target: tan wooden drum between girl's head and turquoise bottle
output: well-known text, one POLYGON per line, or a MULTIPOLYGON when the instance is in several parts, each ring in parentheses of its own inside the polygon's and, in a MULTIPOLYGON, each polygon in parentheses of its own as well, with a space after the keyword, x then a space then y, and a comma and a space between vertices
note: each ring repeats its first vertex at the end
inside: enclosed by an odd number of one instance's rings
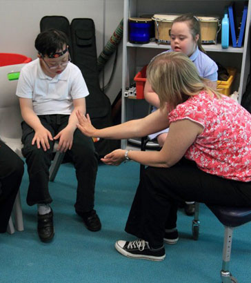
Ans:
POLYGON ((197 17, 201 25, 201 43, 217 43, 217 35, 221 29, 219 17, 197 17))

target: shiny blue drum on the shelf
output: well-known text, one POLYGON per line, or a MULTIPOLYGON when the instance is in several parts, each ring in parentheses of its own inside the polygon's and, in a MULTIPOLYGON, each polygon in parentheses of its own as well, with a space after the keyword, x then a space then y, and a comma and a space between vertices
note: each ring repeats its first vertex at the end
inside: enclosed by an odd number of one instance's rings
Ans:
POLYGON ((152 19, 129 18, 130 43, 145 44, 150 41, 152 19))

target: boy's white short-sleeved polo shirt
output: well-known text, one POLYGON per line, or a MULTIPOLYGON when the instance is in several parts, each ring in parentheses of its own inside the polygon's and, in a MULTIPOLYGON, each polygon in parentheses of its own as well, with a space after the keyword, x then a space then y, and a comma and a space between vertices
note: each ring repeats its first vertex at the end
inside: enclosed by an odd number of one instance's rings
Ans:
POLYGON ((21 69, 16 95, 32 99, 37 115, 70 115, 72 99, 87 97, 89 92, 76 65, 69 62, 61 74, 52 78, 43 72, 39 59, 36 59, 21 69))

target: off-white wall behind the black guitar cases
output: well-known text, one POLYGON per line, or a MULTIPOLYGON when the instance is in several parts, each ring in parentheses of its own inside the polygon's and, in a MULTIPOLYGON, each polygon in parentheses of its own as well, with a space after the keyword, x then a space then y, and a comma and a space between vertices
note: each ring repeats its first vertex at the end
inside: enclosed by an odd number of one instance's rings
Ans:
MULTIPOLYGON (((0 0, 0 52, 37 57, 34 39, 40 32, 43 16, 92 18, 96 27, 97 56, 123 18, 123 0, 0 0)), ((113 59, 113 58, 112 58, 113 59)), ((106 84, 112 70, 112 59, 106 64, 106 84)), ((119 46, 117 68, 111 86, 106 90, 111 102, 121 88, 122 48, 119 46)))

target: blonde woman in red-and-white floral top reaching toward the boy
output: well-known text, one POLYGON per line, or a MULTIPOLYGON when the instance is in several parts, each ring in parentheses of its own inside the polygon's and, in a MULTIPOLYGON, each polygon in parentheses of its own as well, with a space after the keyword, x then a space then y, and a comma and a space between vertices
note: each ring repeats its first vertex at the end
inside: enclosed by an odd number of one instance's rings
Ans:
POLYGON ((108 139, 143 137, 170 126, 160 151, 118 149, 102 159, 110 165, 125 159, 148 165, 125 226, 138 239, 119 240, 115 248, 127 257, 163 260, 164 242, 178 238, 178 202, 251 206, 251 115, 209 88, 181 52, 157 56, 147 76, 159 95, 159 110, 100 130, 78 112, 77 126, 85 135, 108 139))

